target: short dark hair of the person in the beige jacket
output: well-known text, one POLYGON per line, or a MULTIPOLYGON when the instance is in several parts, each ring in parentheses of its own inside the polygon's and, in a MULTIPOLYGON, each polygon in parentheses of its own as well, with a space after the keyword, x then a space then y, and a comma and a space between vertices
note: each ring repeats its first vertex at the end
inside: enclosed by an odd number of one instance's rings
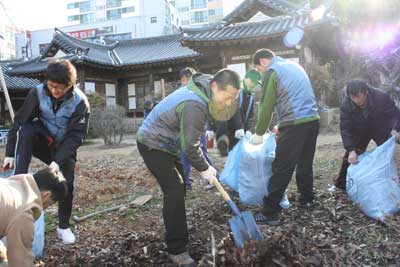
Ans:
POLYGON ((55 172, 49 167, 40 169, 33 174, 40 191, 50 191, 54 201, 63 201, 68 193, 67 181, 61 172, 55 172))

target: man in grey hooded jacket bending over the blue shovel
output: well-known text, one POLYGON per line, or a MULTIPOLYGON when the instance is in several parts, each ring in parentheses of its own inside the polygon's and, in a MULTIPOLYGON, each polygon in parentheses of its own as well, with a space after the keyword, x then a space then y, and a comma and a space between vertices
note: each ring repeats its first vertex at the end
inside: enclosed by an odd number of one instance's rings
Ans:
POLYGON ((189 83, 162 100, 144 120, 137 145, 146 166, 164 193, 165 241, 178 266, 195 266, 188 254, 185 186, 179 153, 183 151, 201 177, 211 182, 217 171, 200 149, 200 136, 209 118, 229 120, 237 109, 239 75, 223 69, 215 76, 196 73, 189 83))

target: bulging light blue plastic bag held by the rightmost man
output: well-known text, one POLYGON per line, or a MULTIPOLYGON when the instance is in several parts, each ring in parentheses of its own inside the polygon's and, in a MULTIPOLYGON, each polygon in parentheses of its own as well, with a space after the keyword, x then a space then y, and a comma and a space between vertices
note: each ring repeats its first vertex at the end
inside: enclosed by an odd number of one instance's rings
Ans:
POLYGON ((346 189, 350 198, 368 217, 385 221, 400 207, 400 186, 394 158, 395 137, 372 152, 359 156, 347 170, 346 189))

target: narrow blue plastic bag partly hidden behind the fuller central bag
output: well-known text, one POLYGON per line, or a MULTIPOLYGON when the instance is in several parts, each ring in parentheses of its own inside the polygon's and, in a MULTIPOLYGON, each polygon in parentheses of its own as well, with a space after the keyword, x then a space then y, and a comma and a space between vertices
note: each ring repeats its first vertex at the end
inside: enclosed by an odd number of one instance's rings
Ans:
POLYGON ((239 192, 239 163, 242 152, 243 138, 228 153, 224 169, 219 175, 219 180, 230 188, 239 192))

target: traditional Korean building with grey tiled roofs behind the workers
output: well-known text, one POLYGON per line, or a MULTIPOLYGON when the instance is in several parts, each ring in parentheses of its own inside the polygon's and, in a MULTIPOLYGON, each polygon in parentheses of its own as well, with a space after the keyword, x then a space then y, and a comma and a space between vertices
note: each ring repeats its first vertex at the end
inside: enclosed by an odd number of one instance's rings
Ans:
POLYGON ((55 29, 40 57, 13 64, 7 73, 43 80, 50 58, 66 58, 77 67, 79 86, 87 94, 103 94, 107 105, 122 105, 140 116, 144 98, 160 97, 161 88, 167 93, 178 88, 179 70, 187 66, 211 74, 228 67, 244 75, 260 48, 270 48, 306 69, 334 60, 336 29, 334 17, 325 14, 312 20, 309 10, 286 0, 245 0, 221 23, 181 34, 100 45, 55 29), (288 47, 284 38, 294 28, 304 36, 288 47))

